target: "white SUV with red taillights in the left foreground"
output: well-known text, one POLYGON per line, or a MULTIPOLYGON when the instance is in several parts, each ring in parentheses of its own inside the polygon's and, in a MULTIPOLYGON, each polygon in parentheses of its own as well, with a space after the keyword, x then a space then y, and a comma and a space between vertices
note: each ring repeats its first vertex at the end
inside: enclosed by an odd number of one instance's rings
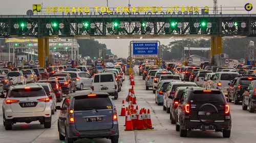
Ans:
POLYGON ((39 120, 45 128, 51 128, 50 99, 40 85, 19 85, 10 87, 3 101, 3 121, 6 130, 18 122, 31 123, 39 120))

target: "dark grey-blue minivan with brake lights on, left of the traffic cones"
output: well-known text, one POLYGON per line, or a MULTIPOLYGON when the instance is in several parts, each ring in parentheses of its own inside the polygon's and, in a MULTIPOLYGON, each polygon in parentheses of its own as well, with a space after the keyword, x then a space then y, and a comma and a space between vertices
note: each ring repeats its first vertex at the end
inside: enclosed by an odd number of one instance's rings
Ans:
POLYGON ((117 111, 109 94, 69 94, 56 109, 60 110, 60 140, 70 143, 81 138, 109 138, 112 143, 118 143, 117 111))

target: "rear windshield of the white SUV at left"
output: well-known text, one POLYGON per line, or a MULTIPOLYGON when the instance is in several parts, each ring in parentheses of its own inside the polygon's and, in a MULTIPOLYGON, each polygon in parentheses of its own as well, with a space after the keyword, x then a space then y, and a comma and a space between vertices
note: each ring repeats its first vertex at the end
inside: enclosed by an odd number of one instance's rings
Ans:
POLYGON ((45 90, 40 88, 15 89, 10 93, 10 97, 38 97, 45 96, 45 90))

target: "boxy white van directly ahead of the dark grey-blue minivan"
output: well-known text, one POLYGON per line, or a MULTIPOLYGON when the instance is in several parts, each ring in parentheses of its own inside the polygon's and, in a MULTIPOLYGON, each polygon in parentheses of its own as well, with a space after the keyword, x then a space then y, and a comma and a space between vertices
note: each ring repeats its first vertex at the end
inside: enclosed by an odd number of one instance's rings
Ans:
POLYGON ((98 73, 93 77, 92 91, 106 92, 114 99, 118 98, 118 84, 114 73, 98 73))

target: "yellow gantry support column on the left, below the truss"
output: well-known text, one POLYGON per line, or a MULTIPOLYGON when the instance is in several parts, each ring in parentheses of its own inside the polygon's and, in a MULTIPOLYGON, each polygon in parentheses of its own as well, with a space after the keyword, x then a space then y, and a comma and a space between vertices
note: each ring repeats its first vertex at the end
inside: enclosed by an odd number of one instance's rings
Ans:
POLYGON ((49 37, 38 38, 38 60, 40 68, 49 66, 49 37))

